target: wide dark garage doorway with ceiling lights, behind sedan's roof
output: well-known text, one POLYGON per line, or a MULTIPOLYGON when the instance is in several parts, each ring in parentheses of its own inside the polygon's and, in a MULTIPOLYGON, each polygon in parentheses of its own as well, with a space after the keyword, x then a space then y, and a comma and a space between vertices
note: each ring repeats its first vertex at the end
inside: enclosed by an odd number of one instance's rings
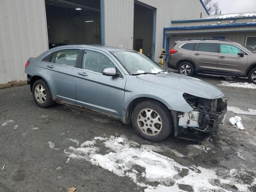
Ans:
POLYGON ((100 0, 45 0, 49 49, 101 44, 100 0))

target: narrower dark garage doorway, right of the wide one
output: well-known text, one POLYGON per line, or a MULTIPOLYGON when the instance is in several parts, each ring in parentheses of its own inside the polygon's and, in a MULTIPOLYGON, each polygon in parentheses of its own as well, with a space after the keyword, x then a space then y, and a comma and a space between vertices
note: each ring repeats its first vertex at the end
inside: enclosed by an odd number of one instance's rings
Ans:
POLYGON ((156 9, 134 2, 134 27, 133 27, 133 49, 143 50, 143 54, 154 59, 154 35, 155 35, 156 9))

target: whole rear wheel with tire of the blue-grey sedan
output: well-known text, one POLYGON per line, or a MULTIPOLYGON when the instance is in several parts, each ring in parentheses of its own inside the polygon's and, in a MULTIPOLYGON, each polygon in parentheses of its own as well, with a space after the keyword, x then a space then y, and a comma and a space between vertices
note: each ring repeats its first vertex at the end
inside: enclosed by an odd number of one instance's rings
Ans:
POLYGON ((50 88, 43 79, 39 79, 34 82, 32 95, 36 104, 41 108, 48 108, 55 104, 52 100, 50 88))

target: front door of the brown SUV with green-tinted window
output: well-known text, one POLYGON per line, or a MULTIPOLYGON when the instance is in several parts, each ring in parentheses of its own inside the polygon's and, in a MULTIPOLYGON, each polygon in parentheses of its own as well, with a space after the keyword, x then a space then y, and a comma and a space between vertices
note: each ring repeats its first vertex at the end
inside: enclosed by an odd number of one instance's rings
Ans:
POLYGON ((248 54, 238 46, 228 43, 220 43, 219 49, 218 72, 244 74, 244 70, 247 66, 248 54), (244 56, 239 56, 238 52, 243 52, 244 56))

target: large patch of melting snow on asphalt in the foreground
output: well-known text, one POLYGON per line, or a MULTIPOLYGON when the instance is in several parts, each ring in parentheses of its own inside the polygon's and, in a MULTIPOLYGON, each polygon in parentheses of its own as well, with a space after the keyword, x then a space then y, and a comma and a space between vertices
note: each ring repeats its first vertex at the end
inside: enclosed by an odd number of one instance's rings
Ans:
POLYGON ((124 137, 95 137, 93 143, 69 147, 64 153, 70 159, 86 160, 118 176, 130 178, 138 187, 144 187, 144 192, 184 191, 180 185, 188 185, 194 192, 224 192, 233 186, 238 191, 249 191, 250 185, 237 179, 240 170, 218 176, 216 169, 182 166, 172 158, 152 151, 159 150, 156 146, 135 145, 124 137), (104 155, 100 154, 102 150, 107 150, 104 155), (158 185, 151 186, 148 182, 157 182, 158 185))

